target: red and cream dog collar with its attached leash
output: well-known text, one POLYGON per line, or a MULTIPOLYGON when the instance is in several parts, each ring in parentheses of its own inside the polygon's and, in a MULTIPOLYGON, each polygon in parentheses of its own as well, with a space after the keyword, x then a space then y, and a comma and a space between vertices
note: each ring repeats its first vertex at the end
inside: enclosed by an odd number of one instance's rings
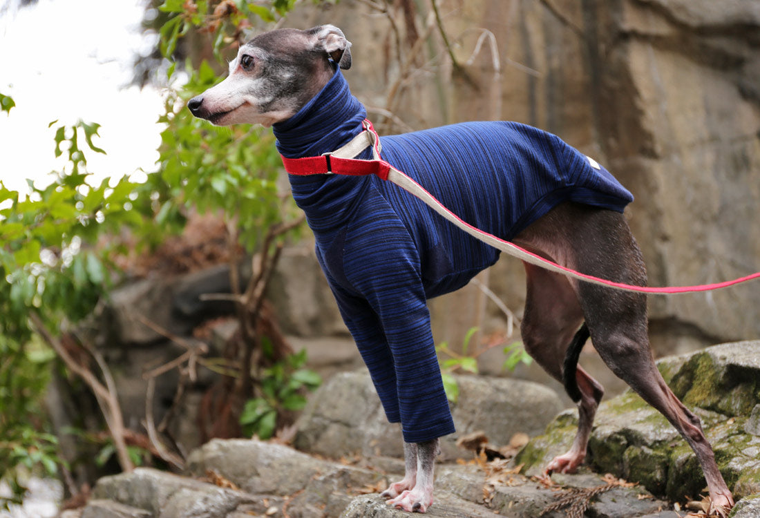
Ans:
POLYGON ((739 279, 727 280, 722 283, 652 288, 648 286, 634 286, 632 284, 616 283, 611 280, 600 279, 600 277, 572 270, 572 268, 563 267, 561 264, 549 261, 548 259, 527 251, 512 242, 505 241, 504 239, 498 238, 496 235, 489 234, 488 232, 483 232, 483 230, 477 229, 462 220, 459 216, 451 212, 451 210, 448 210, 448 208, 446 208, 440 201, 435 199, 435 197, 426 191, 422 185, 415 182, 412 178, 404 174, 404 172, 395 169, 391 164, 385 162, 385 160, 381 160, 380 137, 378 137, 377 132, 375 132, 375 128, 372 127, 372 122, 365 119, 363 125, 365 130, 362 133, 358 134, 349 144, 341 147, 340 150, 336 150, 333 153, 296 159, 283 156, 282 160, 285 170, 291 175, 377 175, 379 178, 388 180, 413 196, 420 198, 420 200, 432 208, 432 210, 435 210, 435 212, 439 213, 455 226, 458 226, 458 228, 464 230, 464 232, 467 232, 474 238, 480 239, 480 241, 486 242, 506 254, 518 257, 522 261, 545 268, 546 270, 562 273, 562 275, 573 277, 578 280, 584 280, 588 283, 598 284, 600 286, 608 286, 610 288, 622 289, 628 292, 672 295, 675 293, 707 292, 714 289, 727 288, 739 283, 746 283, 750 280, 760 279, 760 272, 756 272, 748 276, 739 277, 739 279), (374 160, 356 160, 353 158, 353 156, 358 155, 369 146, 372 146, 372 153, 375 157, 374 160))

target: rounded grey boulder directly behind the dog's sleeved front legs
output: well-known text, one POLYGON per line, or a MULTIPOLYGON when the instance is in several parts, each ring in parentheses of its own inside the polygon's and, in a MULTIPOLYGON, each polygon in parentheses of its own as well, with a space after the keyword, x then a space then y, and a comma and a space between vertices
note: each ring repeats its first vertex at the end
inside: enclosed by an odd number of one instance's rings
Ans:
MULTIPOLYGON (((536 434, 560 409, 553 390, 528 381, 457 376, 458 402, 452 405, 457 433, 442 441, 442 458, 469 456, 456 447, 461 434, 483 430, 492 444, 505 445, 518 433, 536 434)), ((297 423, 299 450, 337 458, 403 456, 398 425, 385 419, 366 370, 337 374, 311 396, 297 423), (356 404, 361 402, 361 404, 356 404)))

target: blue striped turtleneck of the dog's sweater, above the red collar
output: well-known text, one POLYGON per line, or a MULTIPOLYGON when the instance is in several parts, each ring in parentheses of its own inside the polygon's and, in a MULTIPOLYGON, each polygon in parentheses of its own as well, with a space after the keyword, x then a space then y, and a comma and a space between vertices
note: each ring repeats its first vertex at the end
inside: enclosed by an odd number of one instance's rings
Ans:
POLYGON ((366 109, 335 71, 328 84, 286 121, 272 125, 277 150, 287 158, 318 156, 347 144, 362 131, 366 109))

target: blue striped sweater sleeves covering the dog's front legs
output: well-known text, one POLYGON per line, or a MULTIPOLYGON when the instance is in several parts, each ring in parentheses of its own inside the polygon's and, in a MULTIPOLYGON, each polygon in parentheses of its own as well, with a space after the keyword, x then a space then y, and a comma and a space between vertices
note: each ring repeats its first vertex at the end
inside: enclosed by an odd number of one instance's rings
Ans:
POLYGON ((394 421, 397 411, 404 441, 429 441, 452 433, 454 423, 435 355, 420 257, 406 227, 378 198, 371 216, 353 221, 344 244, 344 274, 353 296, 348 290, 334 292, 388 419, 394 421))

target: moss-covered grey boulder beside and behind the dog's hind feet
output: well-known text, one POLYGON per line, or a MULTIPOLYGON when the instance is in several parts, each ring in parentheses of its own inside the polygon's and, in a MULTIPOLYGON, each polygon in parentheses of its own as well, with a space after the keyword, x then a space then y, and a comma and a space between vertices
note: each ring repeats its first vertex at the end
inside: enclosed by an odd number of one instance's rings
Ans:
MULTIPOLYGON (((760 342, 727 343, 658 362, 673 392, 702 421, 720 472, 737 498, 760 493, 760 342)), ((526 471, 543 469, 572 443, 577 412, 562 412, 518 456, 526 471)), ((633 393, 606 401, 589 442, 595 469, 641 482, 673 500, 698 497, 705 479, 676 429, 633 393)))

